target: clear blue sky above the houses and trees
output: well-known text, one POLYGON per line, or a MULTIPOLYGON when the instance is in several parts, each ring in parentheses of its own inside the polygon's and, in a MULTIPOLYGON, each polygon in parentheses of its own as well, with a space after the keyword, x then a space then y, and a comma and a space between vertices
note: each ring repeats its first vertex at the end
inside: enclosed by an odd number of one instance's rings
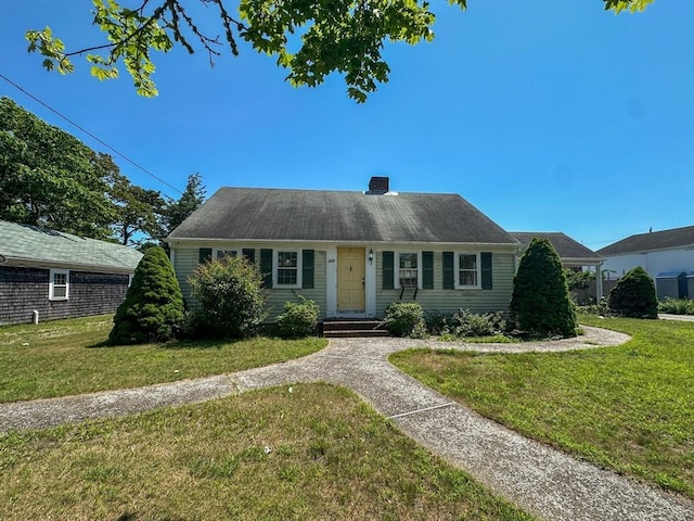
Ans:
MULTIPOLYGON (((111 81, 80 59, 69 76, 46 72, 24 31, 102 43, 88 0, 0 1, 0 73, 180 190, 195 171, 208 195, 389 176, 396 191, 460 193, 506 230, 564 231, 593 250, 694 224, 694 2, 619 16, 600 0, 432 5, 435 40, 388 46, 390 81, 362 105, 338 76, 291 87, 244 43, 214 68, 202 50, 157 54, 154 99, 124 67, 111 81)), ((2 79, 0 96, 108 152, 2 79)), ((179 195, 114 157, 133 182, 179 195)))

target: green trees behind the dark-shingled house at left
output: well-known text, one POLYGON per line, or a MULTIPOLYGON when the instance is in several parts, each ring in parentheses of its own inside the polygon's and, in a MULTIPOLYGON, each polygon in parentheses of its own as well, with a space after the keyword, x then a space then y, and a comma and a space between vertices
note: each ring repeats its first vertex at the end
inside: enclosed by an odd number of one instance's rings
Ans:
POLYGON ((0 99, 0 219, 142 245, 205 200, 200 174, 179 200, 130 182, 108 154, 0 99))

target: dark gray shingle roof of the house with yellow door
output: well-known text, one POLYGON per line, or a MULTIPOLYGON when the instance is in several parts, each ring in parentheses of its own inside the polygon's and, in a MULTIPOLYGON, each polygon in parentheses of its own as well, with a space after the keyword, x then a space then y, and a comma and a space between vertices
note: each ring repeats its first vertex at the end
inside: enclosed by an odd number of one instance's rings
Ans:
POLYGON ((458 194, 221 188, 169 239, 516 244, 458 194))

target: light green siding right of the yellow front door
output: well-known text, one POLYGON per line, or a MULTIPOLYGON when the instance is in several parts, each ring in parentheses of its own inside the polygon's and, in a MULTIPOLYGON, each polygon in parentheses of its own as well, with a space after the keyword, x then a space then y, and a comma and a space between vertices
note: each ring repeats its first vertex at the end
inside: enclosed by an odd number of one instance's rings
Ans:
MULTIPOLYGON (((450 250, 450 249, 449 249, 450 250)), ((382 255, 377 256, 381 265, 382 255)), ((434 251, 434 289, 406 289, 400 301, 400 289, 383 289, 383 270, 376 269, 376 316, 383 317, 385 309, 394 302, 416 302, 425 310, 454 313, 461 308, 473 313, 507 312, 513 292, 514 255, 512 253, 492 253, 491 290, 444 290, 444 266, 441 251, 434 251)))

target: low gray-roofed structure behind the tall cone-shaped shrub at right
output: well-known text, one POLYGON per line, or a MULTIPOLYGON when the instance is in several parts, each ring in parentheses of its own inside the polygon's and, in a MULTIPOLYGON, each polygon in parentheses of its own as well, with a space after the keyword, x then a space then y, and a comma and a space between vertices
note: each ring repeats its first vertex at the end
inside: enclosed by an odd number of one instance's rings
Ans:
MULTIPOLYGON (((583 267, 589 267, 595 274, 601 272, 603 258, 565 233, 558 231, 511 231, 510 233, 523 244, 523 251, 528 247, 532 238, 539 237, 547 239, 554 246, 564 268, 582 270, 583 267)), ((604 293, 602 277, 595 278, 595 283, 591 284, 590 293, 595 296, 595 302, 600 302, 604 293)))

